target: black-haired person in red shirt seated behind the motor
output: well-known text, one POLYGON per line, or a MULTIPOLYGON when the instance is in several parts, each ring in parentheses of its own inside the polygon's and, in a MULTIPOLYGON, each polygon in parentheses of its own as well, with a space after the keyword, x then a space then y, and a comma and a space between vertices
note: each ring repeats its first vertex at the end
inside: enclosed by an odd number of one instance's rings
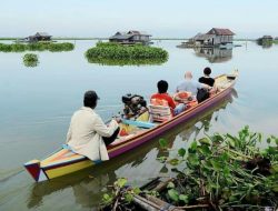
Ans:
POLYGON ((155 100, 163 100, 167 103, 163 105, 168 105, 170 107, 172 114, 177 115, 179 113, 181 113, 182 111, 185 111, 186 105, 183 103, 177 104, 173 102, 173 99, 167 93, 168 91, 168 82, 165 80, 160 80, 157 83, 157 88, 158 88, 158 93, 155 93, 151 96, 150 98, 150 102, 153 103, 155 100))

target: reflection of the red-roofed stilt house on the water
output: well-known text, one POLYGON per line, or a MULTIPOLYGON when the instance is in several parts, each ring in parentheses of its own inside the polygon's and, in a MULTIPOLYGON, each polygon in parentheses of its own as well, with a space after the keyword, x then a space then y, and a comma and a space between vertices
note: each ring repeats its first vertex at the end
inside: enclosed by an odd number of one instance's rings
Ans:
POLYGON ((232 48, 195 48, 193 51, 197 57, 206 58, 210 63, 221 63, 232 58, 232 48))

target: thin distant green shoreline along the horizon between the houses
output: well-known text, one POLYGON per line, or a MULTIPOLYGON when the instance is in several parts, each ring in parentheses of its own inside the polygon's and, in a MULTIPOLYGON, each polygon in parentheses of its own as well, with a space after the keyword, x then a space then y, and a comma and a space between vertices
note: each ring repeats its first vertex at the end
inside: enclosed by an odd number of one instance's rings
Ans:
MULTIPOLYGON (((0 40, 18 40, 22 38, 0 38, 0 40)), ((108 40, 108 38, 56 38, 53 37, 52 40, 108 40)), ((152 38, 151 40, 189 40, 189 38, 152 38)), ((234 41, 255 41, 256 39, 249 38, 239 38, 234 39, 234 41)))

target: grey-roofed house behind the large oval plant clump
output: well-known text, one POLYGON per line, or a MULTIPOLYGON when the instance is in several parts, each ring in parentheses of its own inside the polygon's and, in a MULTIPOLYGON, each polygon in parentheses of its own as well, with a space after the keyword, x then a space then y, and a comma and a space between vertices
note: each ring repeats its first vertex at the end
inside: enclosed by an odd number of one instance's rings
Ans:
POLYGON ((110 42, 119 42, 119 43, 149 43, 150 42, 150 34, 142 31, 128 31, 128 32, 120 32, 118 31, 115 36, 109 38, 110 42))

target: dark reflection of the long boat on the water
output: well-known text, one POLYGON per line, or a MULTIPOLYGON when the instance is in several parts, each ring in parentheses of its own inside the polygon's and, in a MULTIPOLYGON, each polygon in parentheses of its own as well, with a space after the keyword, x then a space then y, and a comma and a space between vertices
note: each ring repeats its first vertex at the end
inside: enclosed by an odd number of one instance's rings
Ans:
MULTIPOLYGON (((199 113, 187 123, 176 127, 162 137, 168 141, 169 148, 177 150, 179 147, 187 148, 188 140, 197 138, 201 131, 208 131, 211 121, 217 121, 218 111, 226 109, 237 98, 236 90, 211 109, 199 113)), ((161 138, 161 137, 160 137, 161 138)), ((107 185, 112 184, 117 178, 126 177, 132 183, 138 178, 146 182, 149 178, 158 174, 170 173, 169 163, 160 163, 157 158, 171 157, 173 151, 165 151, 159 148, 158 139, 139 147, 138 149, 117 157, 101 165, 89 168, 75 174, 57 178, 49 182, 34 183, 31 187, 31 194, 28 198, 29 209, 38 208, 43 204, 47 195, 53 195, 54 192, 72 189, 75 202, 82 208, 97 208, 101 202, 107 185), (141 174, 146 178, 143 178, 141 174)), ((142 184, 142 183, 141 183, 142 184)), ((49 202, 49 198, 46 201, 49 202)))

